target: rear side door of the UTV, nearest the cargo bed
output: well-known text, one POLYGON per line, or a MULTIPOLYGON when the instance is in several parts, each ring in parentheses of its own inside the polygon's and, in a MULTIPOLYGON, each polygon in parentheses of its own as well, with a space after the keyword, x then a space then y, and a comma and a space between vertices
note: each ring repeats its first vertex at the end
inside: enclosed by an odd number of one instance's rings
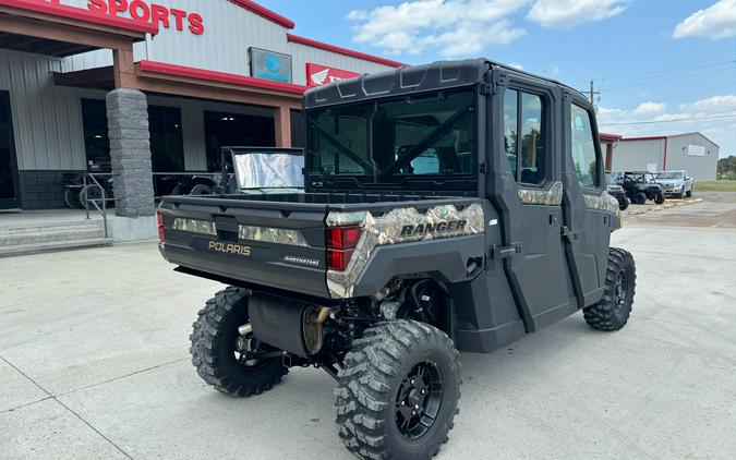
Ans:
MULTIPOLYGON (((505 270, 527 331, 539 330, 577 310, 560 241, 560 99, 557 88, 511 76, 499 95, 503 143, 495 187, 505 244, 516 253, 505 270), (505 165, 504 165, 505 164, 505 165), (498 196, 499 195, 499 196, 498 196)), ((500 133, 499 133, 500 131, 500 133)), ((508 251, 506 252, 508 254, 508 251)), ((495 255, 494 255, 495 257, 495 255)))

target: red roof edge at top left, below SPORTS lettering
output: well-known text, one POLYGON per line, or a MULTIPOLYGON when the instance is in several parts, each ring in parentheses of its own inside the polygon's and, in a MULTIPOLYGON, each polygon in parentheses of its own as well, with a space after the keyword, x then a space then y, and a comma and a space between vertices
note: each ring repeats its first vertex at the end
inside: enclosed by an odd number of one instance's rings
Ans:
POLYGON ((87 23, 100 24, 125 31, 140 32, 144 34, 158 34, 157 25, 109 14, 97 14, 82 8, 69 7, 60 3, 51 3, 38 0, 0 0, 0 5, 16 8, 19 10, 31 11, 34 13, 52 14, 55 16, 84 21, 87 23))

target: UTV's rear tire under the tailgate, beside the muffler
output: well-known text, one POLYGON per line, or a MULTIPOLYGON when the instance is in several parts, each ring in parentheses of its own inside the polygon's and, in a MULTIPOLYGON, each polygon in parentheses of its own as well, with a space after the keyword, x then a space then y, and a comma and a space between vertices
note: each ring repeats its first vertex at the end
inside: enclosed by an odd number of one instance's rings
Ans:
POLYGON ((251 363, 236 356, 241 337, 238 328, 249 322, 246 290, 229 287, 218 292, 198 315, 190 336, 192 364, 218 391, 240 397, 261 395, 289 373, 280 358, 251 363))

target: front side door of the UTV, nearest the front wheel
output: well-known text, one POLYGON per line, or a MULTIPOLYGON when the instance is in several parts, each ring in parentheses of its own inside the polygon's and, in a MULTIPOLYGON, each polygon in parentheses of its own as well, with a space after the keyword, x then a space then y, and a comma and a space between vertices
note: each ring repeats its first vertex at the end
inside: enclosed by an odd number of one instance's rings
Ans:
POLYGON ((603 295, 614 222, 606 210, 607 195, 595 112, 582 96, 567 92, 563 120, 563 240, 578 307, 582 308, 603 295))

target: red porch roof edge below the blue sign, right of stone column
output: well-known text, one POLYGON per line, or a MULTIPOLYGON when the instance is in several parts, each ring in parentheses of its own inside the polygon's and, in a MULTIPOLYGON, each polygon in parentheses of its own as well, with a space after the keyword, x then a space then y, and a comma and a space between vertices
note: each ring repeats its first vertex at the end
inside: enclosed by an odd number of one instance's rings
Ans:
POLYGON ((184 65, 167 64, 156 61, 141 61, 138 69, 144 72, 160 73, 165 75, 182 76, 185 78, 206 80, 210 82, 229 83, 239 86, 249 86, 260 89, 268 89, 280 93, 302 95, 306 86, 293 83, 274 82, 272 80, 255 78, 253 76, 238 75, 234 73, 215 72, 210 70, 188 68, 184 65))

